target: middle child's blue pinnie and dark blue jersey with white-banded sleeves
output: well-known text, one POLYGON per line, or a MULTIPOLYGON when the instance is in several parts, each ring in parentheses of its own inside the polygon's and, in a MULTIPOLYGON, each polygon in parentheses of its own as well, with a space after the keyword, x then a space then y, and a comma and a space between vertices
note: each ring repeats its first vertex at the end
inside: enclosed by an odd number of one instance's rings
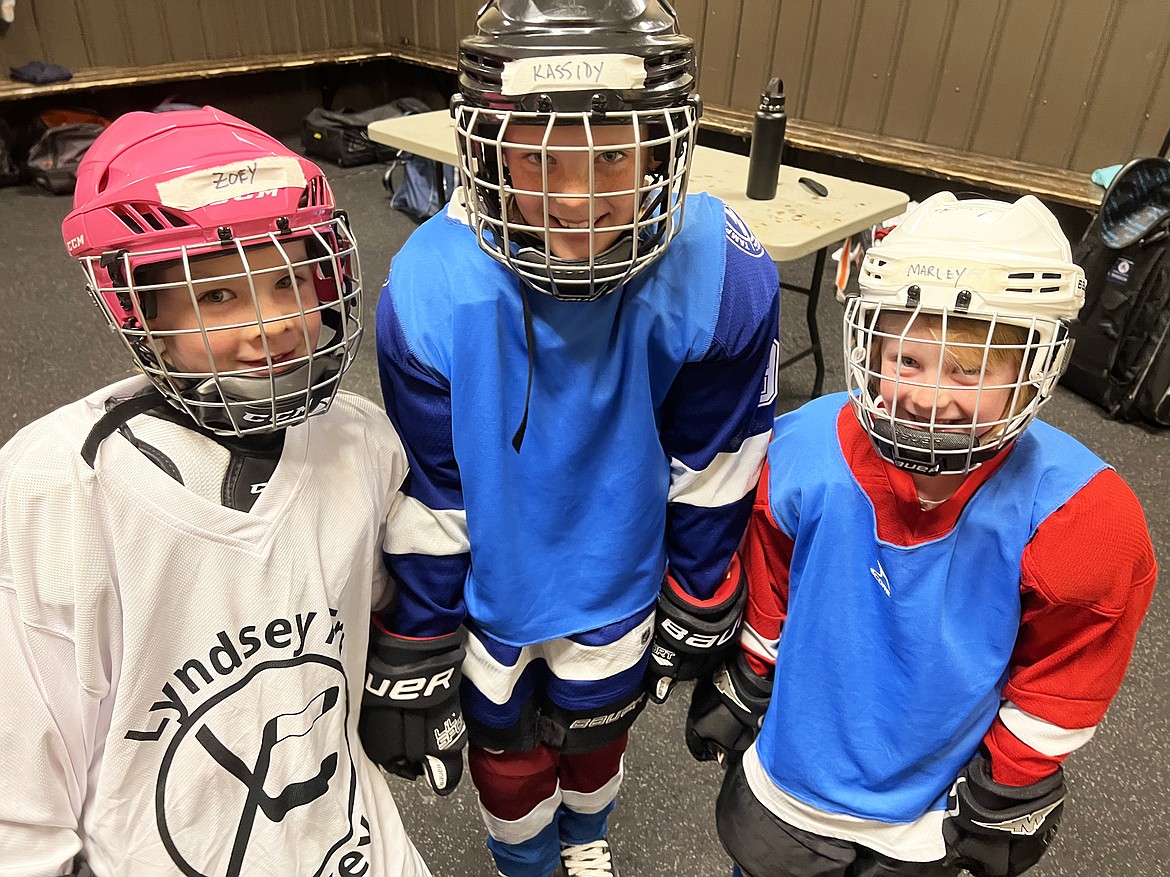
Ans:
POLYGON ((523 290, 456 208, 421 226, 378 304, 383 395, 426 511, 386 547, 387 628, 469 614, 544 642, 644 612, 668 566, 710 596, 770 436, 778 318, 775 264, 706 195, 658 262, 587 303, 523 290))

